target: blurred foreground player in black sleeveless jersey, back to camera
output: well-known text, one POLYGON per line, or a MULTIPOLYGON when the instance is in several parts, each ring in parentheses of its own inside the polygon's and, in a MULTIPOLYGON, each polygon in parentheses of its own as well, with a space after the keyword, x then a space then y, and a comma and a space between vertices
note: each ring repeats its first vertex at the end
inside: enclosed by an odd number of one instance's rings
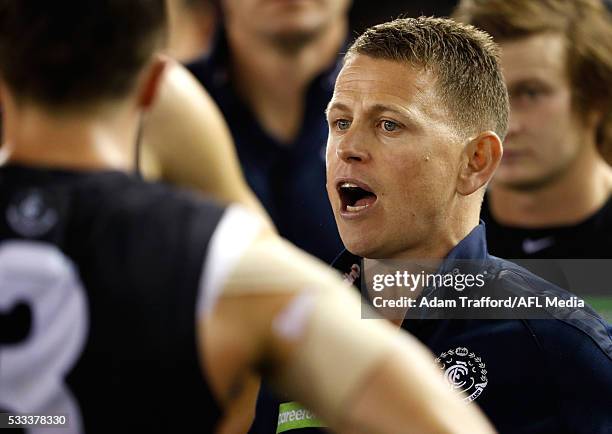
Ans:
POLYGON ((163 25, 163 0, 0 2, 2 410, 210 431, 258 371, 337 429, 490 432, 258 218, 126 174, 163 25))

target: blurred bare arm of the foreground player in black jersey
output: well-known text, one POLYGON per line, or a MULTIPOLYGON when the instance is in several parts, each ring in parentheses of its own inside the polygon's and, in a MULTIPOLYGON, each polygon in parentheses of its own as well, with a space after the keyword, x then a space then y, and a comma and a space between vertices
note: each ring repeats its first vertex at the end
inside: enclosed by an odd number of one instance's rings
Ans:
POLYGON ((260 232, 223 278, 199 328, 222 403, 256 371, 339 432, 493 431, 448 390, 421 344, 362 320, 358 296, 333 271, 277 236, 260 232))

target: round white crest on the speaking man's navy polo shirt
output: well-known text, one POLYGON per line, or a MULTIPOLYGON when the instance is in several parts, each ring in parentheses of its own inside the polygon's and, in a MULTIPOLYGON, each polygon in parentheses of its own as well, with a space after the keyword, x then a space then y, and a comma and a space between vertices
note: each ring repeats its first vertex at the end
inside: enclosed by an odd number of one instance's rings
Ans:
POLYGON ((451 390, 464 392, 464 401, 474 401, 480 396, 489 381, 482 359, 465 347, 440 354, 436 359, 451 390))

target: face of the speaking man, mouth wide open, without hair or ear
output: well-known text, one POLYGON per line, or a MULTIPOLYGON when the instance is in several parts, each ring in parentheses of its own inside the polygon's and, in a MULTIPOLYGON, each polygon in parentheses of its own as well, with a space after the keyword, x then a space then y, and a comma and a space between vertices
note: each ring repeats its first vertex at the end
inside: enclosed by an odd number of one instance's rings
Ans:
POLYGON ((353 56, 327 119, 327 192, 347 249, 427 257, 448 224, 461 154, 434 75, 353 56))

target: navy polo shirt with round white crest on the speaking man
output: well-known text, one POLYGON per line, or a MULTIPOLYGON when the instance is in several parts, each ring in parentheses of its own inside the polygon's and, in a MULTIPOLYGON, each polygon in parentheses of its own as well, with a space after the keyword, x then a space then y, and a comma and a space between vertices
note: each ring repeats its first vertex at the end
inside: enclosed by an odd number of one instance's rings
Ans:
MULTIPOLYGON (((570 295, 489 255, 484 224, 446 259, 444 267, 464 260, 482 264, 490 279, 514 294, 570 295)), ((352 278, 363 269, 362 258, 346 251, 334 266, 352 278)), ((402 328, 432 351, 449 387, 478 404, 500 433, 612 433, 612 327, 588 306, 551 310, 549 319, 405 319, 402 328)), ((258 411, 273 406, 269 419, 279 421, 278 403, 258 403, 258 411)), ((280 416, 282 427, 296 424, 298 416, 296 426, 311 426, 282 432, 321 432, 313 428, 315 418, 303 422, 309 413, 281 408, 280 416)))

